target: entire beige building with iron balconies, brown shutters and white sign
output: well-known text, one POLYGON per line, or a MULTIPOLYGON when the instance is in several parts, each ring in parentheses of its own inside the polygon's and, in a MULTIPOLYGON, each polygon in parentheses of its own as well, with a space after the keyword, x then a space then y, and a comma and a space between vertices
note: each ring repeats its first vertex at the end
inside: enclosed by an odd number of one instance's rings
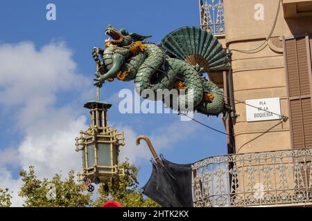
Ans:
POLYGON ((229 155, 193 164, 196 206, 311 204, 312 0, 200 0, 200 18, 232 70, 209 73, 229 155))

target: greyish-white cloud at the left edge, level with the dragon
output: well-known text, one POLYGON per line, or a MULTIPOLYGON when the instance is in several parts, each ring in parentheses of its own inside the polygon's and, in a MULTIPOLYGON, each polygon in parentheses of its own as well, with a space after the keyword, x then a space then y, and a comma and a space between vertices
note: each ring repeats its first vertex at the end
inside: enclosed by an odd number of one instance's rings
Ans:
POLYGON ((49 44, 40 50, 32 43, 3 44, 0 62, 0 101, 6 105, 37 98, 45 98, 40 100, 44 106, 55 101, 55 93, 69 86, 76 68, 64 44, 49 44))

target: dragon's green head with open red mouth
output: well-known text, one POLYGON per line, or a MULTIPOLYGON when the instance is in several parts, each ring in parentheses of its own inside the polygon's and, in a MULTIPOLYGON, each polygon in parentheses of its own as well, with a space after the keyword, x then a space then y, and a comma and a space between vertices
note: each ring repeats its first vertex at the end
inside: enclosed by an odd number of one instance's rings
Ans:
POLYGON ((110 36, 109 39, 105 40, 105 46, 130 46, 135 41, 143 41, 151 36, 138 35, 136 33, 129 33, 127 29, 121 28, 117 30, 111 25, 108 25, 105 34, 110 36))

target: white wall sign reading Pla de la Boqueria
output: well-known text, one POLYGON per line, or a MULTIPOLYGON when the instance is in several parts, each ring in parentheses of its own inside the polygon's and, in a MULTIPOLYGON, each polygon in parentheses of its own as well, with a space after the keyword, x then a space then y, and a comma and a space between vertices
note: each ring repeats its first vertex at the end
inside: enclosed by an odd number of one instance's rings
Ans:
POLYGON ((281 119, 281 106, 279 104, 279 97, 246 99, 246 117, 247 122, 281 119))

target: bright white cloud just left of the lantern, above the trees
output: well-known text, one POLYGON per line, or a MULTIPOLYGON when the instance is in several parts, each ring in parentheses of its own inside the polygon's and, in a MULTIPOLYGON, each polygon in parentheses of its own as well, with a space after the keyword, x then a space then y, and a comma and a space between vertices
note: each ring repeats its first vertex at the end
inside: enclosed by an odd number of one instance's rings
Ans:
POLYGON ((51 177, 59 171, 67 175, 71 169, 79 171, 81 157, 75 151, 74 137, 86 127, 85 122, 84 116, 69 118, 55 131, 28 133, 18 149, 21 167, 35 166, 39 177, 51 177))

